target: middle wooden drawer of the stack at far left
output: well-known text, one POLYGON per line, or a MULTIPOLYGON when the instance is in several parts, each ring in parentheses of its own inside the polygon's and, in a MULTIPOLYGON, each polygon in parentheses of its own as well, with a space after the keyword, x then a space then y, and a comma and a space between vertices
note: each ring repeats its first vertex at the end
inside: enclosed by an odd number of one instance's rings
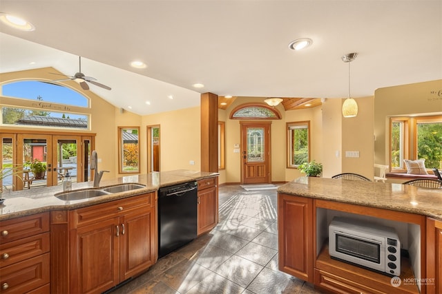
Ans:
POLYGON ((49 233, 0 244, 0 268, 49 252, 49 233))

